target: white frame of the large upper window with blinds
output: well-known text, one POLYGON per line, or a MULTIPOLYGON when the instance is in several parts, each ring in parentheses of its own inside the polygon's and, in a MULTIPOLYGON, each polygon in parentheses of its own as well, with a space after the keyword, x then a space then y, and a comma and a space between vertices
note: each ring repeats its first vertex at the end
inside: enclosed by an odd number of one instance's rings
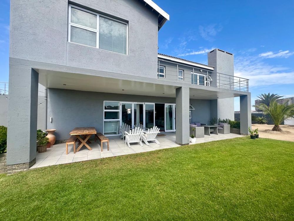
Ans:
MULTIPOLYGON (((74 26, 74 27, 80 28, 80 29, 85 29, 85 30, 90 31, 90 32, 96 32, 96 48, 99 48, 99 49, 105 50, 105 51, 109 51, 109 52, 119 53, 119 54, 122 54, 122 55, 128 55, 128 23, 127 22, 123 22, 121 20, 114 19, 114 18, 108 17, 106 15, 96 13, 94 11, 90 11, 88 9, 81 8, 79 6, 69 4, 69 10, 68 10, 68 39, 67 39, 68 42, 71 42, 71 26, 74 26), (90 14, 96 15, 96 19, 97 19, 97 22, 96 22, 97 27, 96 27, 96 29, 92 29, 92 28, 89 28, 89 27, 86 27, 86 26, 83 26, 83 25, 72 23, 71 22, 71 8, 75 8, 75 9, 78 9, 78 10, 85 11, 85 12, 88 12, 90 14), (116 21, 116 22, 126 24, 126 54, 99 48, 99 20, 100 20, 100 16, 104 17, 104 18, 107 18, 107 19, 111 19, 111 20, 116 21)), ((79 43, 75 43, 75 42, 71 42, 71 43, 79 44, 79 43)), ((85 44, 79 44, 79 45, 83 45, 83 46, 87 46, 87 47, 93 47, 93 46, 89 46, 89 45, 85 45, 85 44)), ((95 48, 95 47, 93 47, 93 48, 95 48)))

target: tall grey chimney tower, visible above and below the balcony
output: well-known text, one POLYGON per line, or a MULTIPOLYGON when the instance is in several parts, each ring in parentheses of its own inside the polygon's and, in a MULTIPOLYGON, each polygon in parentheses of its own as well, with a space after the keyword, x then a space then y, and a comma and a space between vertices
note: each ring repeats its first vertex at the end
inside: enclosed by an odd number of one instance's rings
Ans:
MULTIPOLYGON (((226 52, 215 49, 208 52, 208 65, 214 67, 214 71, 226 75, 234 76, 234 56, 226 52)), ((228 76, 226 76, 228 77, 228 76)), ((213 84, 228 84, 230 79, 212 76, 213 84)), ((230 85, 228 88, 230 89, 230 85)), ((218 118, 234 120, 234 98, 218 99, 218 118)))

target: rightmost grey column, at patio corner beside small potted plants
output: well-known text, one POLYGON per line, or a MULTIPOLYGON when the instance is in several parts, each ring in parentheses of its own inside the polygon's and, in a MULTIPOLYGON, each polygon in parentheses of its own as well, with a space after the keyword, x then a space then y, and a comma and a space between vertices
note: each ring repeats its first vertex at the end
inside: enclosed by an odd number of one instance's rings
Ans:
POLYGON ((240 96, 240 133, 248 135, 248 127, 251 128, 251 97, 250 95, 240 96))

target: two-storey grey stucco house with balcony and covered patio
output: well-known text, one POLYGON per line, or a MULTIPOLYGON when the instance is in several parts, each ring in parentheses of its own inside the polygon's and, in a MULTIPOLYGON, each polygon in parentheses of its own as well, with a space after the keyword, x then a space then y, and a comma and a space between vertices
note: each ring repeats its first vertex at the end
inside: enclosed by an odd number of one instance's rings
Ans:
POLYGON ((233 55, 215 49, 203 65, 158 54, 168 20, 151 0, 12 0, 7 164, 35 162, 38 84, 57 140, 74 127, 118 137, 122 123, 141 123, 185 145, 189 120, 233 119, 234 97, 247 134, 248 80, 233 76, 233 55))

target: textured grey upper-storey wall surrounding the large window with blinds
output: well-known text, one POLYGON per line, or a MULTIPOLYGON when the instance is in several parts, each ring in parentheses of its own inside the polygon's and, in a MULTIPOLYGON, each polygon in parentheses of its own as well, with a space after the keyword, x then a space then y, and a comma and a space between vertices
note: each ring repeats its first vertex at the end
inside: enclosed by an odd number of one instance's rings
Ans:
POLYGON ((158 18, 135 0, 74 0, 128 22, 128 55, 67 42, 68 1, 11 1, 10 57, 157 77, 158 18))

